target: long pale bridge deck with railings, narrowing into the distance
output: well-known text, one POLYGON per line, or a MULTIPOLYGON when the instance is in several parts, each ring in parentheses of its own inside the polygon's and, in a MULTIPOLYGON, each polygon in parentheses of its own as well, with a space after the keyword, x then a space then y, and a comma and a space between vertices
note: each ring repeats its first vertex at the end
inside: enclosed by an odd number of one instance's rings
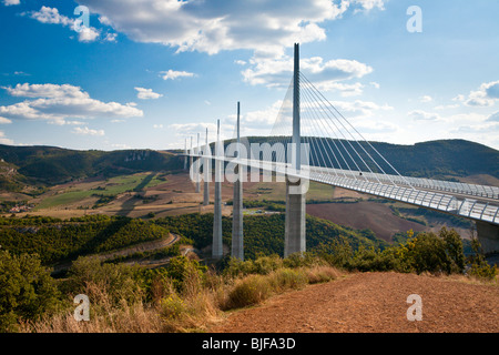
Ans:
POLYGON ((496 186, 370 172, 359 173, 309 165, 302 165, 298 173, 291 170, 291 164, 286 163, 189 153, 186 155, 233 162, 282 176, 308 179, 327 185, 499 225, 499 187, 496 186))

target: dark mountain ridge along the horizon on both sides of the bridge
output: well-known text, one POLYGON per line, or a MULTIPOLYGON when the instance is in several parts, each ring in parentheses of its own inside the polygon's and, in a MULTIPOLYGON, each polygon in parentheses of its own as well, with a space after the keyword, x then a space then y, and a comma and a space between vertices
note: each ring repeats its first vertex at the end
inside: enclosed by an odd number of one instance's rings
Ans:
MULTIPOLYGON (((268 140, 263 136, 248 138, 251 143, 263 143, 268 140)), ((314 139, 304 138, 303 140, 310 143, 310 156, 316 156, 316 153, 322 153, 324 150, 325 145, 318 144, 314 139)), ((370 149, 368 144, 361 144, 366 150, 370 149)), ((383 142, 370 142, 370 144, 404 175, 449 179, 449 176, 489 174, 499 179, 499 151, 483 144, 465 140, 428 141, 414 145, 383 142)), ((363 154, 367 160, 367 155, 364 152, 360 155, 363 154)), ((182 168, 183 160, 180 156, 154 150, 106 152, 0 144, 0 190, 2 191, 18 191, 24 184, 52 185, 96 175, 172 171, 182 168)))

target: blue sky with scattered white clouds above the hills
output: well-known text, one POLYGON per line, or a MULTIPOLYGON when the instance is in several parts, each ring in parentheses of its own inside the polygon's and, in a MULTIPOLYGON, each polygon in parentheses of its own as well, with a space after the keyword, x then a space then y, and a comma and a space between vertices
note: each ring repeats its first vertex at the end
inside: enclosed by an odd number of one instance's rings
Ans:
POLYGON ((499 2, 0 0, 0 144, 266 135, 301 70, 367 139, 499 149, 499 2), (414 7, 417 7, 414 10, 414 7))

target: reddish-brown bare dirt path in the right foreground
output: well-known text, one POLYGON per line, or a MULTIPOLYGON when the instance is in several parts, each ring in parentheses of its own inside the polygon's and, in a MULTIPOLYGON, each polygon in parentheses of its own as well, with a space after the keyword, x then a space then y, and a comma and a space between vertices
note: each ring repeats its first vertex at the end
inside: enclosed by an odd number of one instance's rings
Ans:
POLYGON ((213 333, 499 332, 499 287, 441 277, 359 273, 233 313, 213 333), (422 321, 407 320, 418 294, 422 321))

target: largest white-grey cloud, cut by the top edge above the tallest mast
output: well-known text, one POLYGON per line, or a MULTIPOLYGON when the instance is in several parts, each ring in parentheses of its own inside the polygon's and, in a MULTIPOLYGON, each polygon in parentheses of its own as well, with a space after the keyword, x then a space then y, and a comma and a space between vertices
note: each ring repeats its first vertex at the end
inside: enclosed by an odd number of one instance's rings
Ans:
MULTIPOLYGON (((371 7, 369 1, 356 1, 363 8, 371 7)), ((339 4, 330 0, 78 2, 134 41, 210 54, 236 49, 283 53, 283 48, 293 42, 324 40, 320 23, 337 19, 350 6, 346 0, 339 4)))

